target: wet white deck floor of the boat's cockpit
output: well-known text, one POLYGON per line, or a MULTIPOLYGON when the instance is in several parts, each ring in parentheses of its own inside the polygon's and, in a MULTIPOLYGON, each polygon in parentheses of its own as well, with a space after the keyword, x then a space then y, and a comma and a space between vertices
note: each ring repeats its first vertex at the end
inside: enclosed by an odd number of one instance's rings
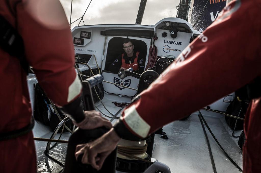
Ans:
MULTIPOLYGON (((112 114, 116 114, 121 108, 116 107, 111 102, 129 102, 130 99, 105 94, 102 101, 112 114)), ((111 116, 100 102, 96 103, 96 105, 104 114, 111 116)), ((237 144, 238 138, 232 137, 232 130, 227 127, 224 116, 205 110, 201 110, 201 113, 224 150, 232 157, 234 162, 242 168, 242 152, 237 144)), ((120 116, 120 114, 117 116, 120 116)), ((162 117, 163 116, 164 115, 162 115, 162 117)), ((116 122, 116 119, 114 119, 112 123, 114 122, 116 122)), ((207 128, 205 129, 210 141, 217 172, 239 172, 224 155, 207 128)), ((197 112, 193 113, 185 121, 175 121, 165 125, 163 131, 167 133, 169 139, 162 139, 161 135, 155 135, 153 158, 167 164, 172 173, 213 172, 209 150, 197 112)), ((38 124, 37 122, 35 123, 33 133, 35 137, 44 138, 50 138, 52 135, 52 131, 49 127, 38 124)), ((240 133, 241 131, 236 131, 235 135, 240 135, 240 133)), ((58 138, 59 135, 60 134, 57 134, 55 138, 58 138)), ((68 139, 69 136, 69 132, 64 132, 61 139, 68 139)), ((38 162, 37 172, 57 173, 62 167, 45 156, 44 151, 46 144, 47 142, 35 141, 38 162)), ((51 145, 53 144, 54 143, 51 145)), ((58 144, 51 150, 51 156, 64 163, 66 148, 67 144, 58 144)))

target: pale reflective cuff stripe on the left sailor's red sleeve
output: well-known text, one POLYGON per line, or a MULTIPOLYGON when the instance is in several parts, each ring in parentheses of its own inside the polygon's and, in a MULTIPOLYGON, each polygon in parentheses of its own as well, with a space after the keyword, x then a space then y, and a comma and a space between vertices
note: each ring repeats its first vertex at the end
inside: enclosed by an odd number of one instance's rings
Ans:
POLYGON ((72 84, 70 84, 68 89, 68 97, 67 102, 71 102, 76 96, 78 96, 81 93, 82 85, 79 77, 75 76, 75 79, 72 84))

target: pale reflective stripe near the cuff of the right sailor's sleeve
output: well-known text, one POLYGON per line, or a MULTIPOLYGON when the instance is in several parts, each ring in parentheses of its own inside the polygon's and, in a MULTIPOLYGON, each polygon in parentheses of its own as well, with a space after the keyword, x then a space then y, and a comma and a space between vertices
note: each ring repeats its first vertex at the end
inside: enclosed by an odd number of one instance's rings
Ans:
POLYGON ((135 132, 137 135, 145 138, 149 134, 150 125, 144 121, 137 112, 135 105, 129 107, 124 111, 123 121, 135 132))

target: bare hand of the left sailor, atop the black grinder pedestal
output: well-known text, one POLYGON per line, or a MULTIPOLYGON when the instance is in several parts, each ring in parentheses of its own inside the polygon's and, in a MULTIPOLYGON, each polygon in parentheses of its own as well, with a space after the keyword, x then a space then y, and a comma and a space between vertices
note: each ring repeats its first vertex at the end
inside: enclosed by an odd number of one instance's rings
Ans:
POLYGON ((91 110, 91 111, 84 111, 85 118, 80 123, 74 122, 76 126, 78 126, 81 129, 95 129, 98 127, 105 126, 107 128, 112 128, 111 122, 102 117, 100 112, 91 110))

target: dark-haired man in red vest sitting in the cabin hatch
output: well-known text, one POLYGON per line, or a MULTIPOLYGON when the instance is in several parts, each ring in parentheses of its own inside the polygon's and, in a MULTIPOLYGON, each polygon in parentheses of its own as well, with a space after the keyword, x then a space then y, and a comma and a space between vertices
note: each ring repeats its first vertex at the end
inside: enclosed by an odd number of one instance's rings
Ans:
POLYGON ((140 52, 135 52, 134 45, 131 39, 125 39, 122 42, 124 54, 119 55, 114 62, 112 62, 109 66, 109 71, 117 73, 120 68, 128 69, 133 68, 133 72, 135 73, 143 73, 145 68, 145 57, 140 52))

